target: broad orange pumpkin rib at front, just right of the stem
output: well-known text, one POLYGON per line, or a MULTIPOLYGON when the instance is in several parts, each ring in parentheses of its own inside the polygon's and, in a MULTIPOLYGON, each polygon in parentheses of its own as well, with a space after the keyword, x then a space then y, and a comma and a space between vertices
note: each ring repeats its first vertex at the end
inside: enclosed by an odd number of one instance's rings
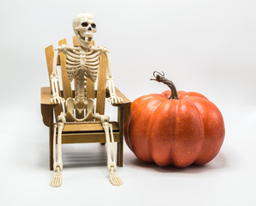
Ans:
POLYGON ((200 154, 204 142, 204 125, 192 102, 179 100, 176 108, 173 164, 176 167, 187 167, 200 154))

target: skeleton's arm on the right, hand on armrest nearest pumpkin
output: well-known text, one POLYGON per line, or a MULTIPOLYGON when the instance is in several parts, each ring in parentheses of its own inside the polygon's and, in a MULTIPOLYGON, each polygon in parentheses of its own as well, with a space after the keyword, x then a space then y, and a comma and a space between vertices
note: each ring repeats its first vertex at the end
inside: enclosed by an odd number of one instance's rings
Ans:
POLYGON ((113 84, 113 76, 112 76, 111 62, 109 58, 109 51, 105 50, 104 53, 106 54, 106 57, 107 57, 107 84, 108 84, 109 93, 110 93, 109 100, 111 100, 112 104, 121 103, 123 102, 123 99, 117 96, 115 92, 114 84, 113 84))

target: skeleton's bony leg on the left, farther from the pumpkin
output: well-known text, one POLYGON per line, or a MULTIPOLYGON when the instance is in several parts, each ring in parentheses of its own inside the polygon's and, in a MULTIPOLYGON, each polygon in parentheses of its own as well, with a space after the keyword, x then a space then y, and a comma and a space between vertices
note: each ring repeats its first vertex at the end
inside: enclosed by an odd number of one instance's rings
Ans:
POLYGON ((53 134, 53 170, 54 174, 52 175, 52 179, 50 181, 50 185, 52 187, 59 187, 62 184, 62 172, 63 170, 63 163, 62 163, 62 130, 64 128, 65 123, 65 114, 64 112, 61 112, 60 115, 58 115, 58 123, 57 125, 54 125, 54 134, 53 134), (58 128, 58 148, 57 148, 57 154, 58 154, 58 161, 56 161, 56 129, 58 128))

